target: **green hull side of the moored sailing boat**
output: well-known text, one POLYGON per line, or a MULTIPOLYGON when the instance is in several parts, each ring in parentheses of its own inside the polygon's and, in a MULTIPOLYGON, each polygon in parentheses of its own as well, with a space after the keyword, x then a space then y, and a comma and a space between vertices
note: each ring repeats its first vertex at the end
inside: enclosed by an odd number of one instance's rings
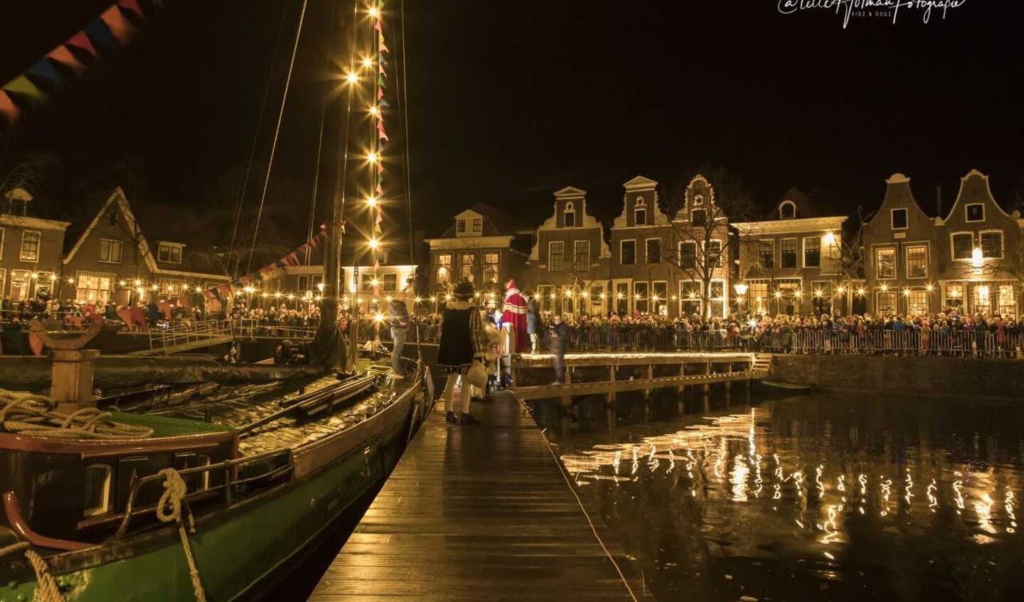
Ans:
MULTIPOLYGON (((339 433, 335 445, 347 447, 342 456, 198 520, 189 543, 207 599, 258 597, 257 588, 286 572, 290 559, 382 482, 404 448, 410 421, 416 420, 414 394, 408 390, 351 432, 339 433)), ((176 528, 53 556, 50 570, 69 601, 195 599, 176 528)), ((6 582, 0 600, 31 600, 35 586, 31 577, 6 582)))

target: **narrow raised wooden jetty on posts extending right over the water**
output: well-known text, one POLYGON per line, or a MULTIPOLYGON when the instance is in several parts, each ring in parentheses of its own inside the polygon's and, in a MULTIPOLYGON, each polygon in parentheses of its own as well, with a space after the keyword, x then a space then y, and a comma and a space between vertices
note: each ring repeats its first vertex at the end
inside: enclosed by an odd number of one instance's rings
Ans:
POLYGON ((567 404, 573 396, 607 394, 611 401, 617 392, 649 392, 692 385, 707 391, 716 383, 728 386, 732 382, 768 377, 766 360, 757 353, 566 353, 564 383, 529 384, 541 380, 531 378, 531 373, 550 379, 554 375, 553 361, 554 356, 546 353, 514 357, 512 370, 517 386, 512 391, 515 395, 520 399, 561 398, 567 404), (591 378, 574 378, 580 369, 589 370, 591 378), (594 372, 601 376, 593 378, 594 372))

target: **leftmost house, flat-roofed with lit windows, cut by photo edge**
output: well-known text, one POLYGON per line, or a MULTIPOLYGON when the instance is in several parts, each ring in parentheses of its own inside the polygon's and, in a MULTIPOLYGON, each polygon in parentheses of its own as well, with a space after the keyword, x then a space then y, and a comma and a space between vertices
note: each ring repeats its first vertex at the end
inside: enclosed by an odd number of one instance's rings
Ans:
MULTIPOLYGON (((24 190, 22 190, 24 192, 24 190)), ((8 199, 10 213, 0 214, 0 291, 13 302, 36 295, 60 294, 60 256, 67 221, 26 215, 31 196, 8 199), (20 206, 20 215, 13 205, 20 206)))

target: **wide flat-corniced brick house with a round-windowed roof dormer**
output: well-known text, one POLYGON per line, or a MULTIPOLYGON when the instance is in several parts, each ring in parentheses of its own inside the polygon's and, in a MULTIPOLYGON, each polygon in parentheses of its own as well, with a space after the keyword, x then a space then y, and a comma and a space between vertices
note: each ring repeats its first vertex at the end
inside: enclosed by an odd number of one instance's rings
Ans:
POLYGON ((767 219, 733 222, 744 308, 760 314, 847 313, 847 297, 840 294, 846 220, 819 215, 794 187, 767 219))

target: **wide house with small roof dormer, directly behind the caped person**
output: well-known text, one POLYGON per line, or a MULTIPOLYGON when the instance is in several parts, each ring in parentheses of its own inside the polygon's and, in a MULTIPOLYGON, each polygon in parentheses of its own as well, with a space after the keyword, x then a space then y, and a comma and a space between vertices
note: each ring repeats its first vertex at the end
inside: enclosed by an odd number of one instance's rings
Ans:
POLYGON ((504 297, 509 278, 526 275, 534 228, 494 207, 476 203, 455 216, 452 226, 430 248, 428 291, 442 297, 462 281, 496 303, 504 297))

